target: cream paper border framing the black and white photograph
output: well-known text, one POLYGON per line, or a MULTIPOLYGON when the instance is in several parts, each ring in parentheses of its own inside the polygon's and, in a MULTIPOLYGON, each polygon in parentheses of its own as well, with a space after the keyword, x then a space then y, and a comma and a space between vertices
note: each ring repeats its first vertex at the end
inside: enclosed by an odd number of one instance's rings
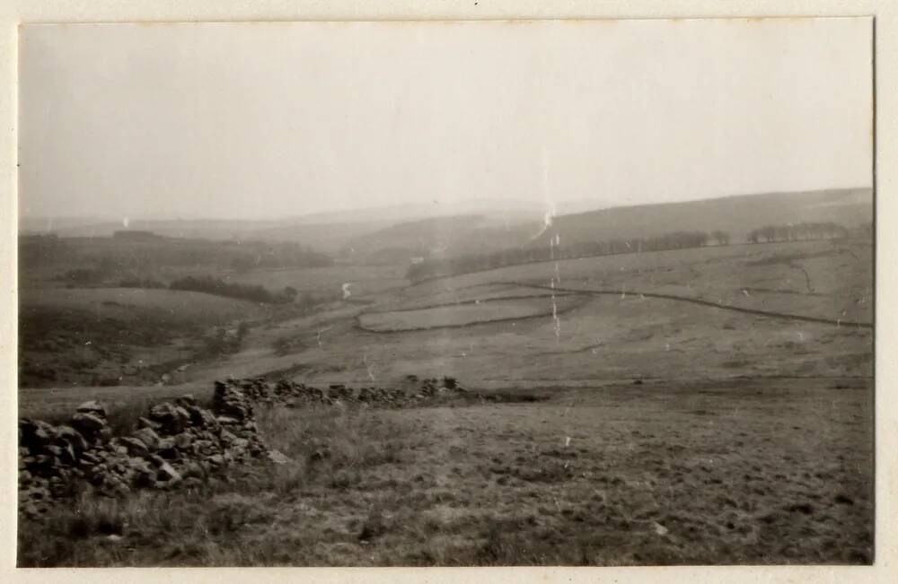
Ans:
POLYGON ((66 3, 49 0, 22 0, 3 2, 0 14, 5 42, 0 54, 0 72, 8 82, 0 97, 0 115, 4 118, 4 154, 7 164, 0 165, 3 187, 0 190, 0 383, 8 388, 0 394, 0 411, 4 422, 0 425, 0 444, 4 445, 0 475, 4 487, 0 491, 4 515, 2 572, 5 581, 157 581, 160 578, 186 577, 198 581, 239 581, 250 574, 252 578, 282 580, 296 578, 314 581, 718 581, 748 582, 754 580, 794 582, 859 582, 894 581, 894 564, 898 561, 895 525, 898 512, 898 469, 895 457, 898 453, 898 405, 890 396, 896 379, 894 341, 888 334, 894 330, 894 310, 880 307, 879 299, 894 297, 898 289, 898 275, 888 262, 888 251, 898 250, 898 235, 884 229, 885 223, 895 218, 896 165, 898 160, 898 3, 894 2, 837 2, 832 0, 807 0, 793 2, 746 2, 735 0, 721 3, 716 0, 628 3, 612 2, 515 2, 503 0, 490 2, 432 2, 412 0, 384 1, 367 6, 357 2, 338 0, 333 2, 257 2, 239 0, 185 1, 160 3, 152 0, 135 0, 121 3, 115 0, 70 0, 66 3), (876 548, 873 567, 849 566, 737 566, 737 567, 645 567, 645 568, 508 568, 508 569, 101 569, 101 570, 16 570, 15 521, 16 521, 16 466, 15 433, 17 419, 16 399, 16 346, 17 316, 16 283, 16 221, 17 217, 17 74, 18 74, 18 25, 20 23, 49 22, 287 22, 287 21, 471 21, 471 20, 572 20, 572 19, 664 19, 664 18, 760 18, 760 17, 846 17, 872 16, 874 43, 874 132, 871 142, 875 149, 873 163, 874 225, 874 336, 876 400, 874 436, 876 439, 876 548), (891 164, 884 163, 892 161, 891 164), (7 466, 8 465, 8 466, 7 466), (99 577, 99 578, 98 578, 99 577), (152 580, 151 580, 152 579, 152 580))

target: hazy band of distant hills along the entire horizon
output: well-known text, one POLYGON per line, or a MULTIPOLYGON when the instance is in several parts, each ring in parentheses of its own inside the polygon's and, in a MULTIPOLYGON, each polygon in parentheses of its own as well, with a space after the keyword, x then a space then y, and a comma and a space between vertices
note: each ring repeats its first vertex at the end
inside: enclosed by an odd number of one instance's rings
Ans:
MULTIPOLYGON (((837 222, 846 227, 872 220, 870 188, 799 193, 724 196, 650 205, 607 207, 560 214, 541 233, 543 209, 533 201, 461 201, 311 214, 274 221, 131 221, 128 228, 159 235, 207 240, 295 242, 318 251, 379 262, 410 257, 453 257, 501 248, 562 244, 616 238, 648 238, 670 231, 726 231, 733 242, 765 224, 837 222)), ((602 206, 579 201, 560 210, 602 206)), ((122 222, 102 219, 22 218, 22 232, 52 231, 59 236, 108 237, 122 222)))

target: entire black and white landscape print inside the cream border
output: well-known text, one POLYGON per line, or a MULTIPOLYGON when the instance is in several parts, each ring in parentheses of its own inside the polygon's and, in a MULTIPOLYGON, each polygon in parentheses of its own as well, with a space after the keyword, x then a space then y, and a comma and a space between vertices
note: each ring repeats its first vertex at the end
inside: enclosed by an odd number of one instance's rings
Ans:
POLYGON ((22 24, 17 565, 873 564, 874 65, 859 16, 22 24))

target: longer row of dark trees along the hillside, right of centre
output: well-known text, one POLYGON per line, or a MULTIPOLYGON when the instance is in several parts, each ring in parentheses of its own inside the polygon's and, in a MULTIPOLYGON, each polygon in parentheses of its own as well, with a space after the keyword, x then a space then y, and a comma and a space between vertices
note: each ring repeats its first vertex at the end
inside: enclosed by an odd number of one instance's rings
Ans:
POLYGON ((660 251, 663 249, 700 248, 710 241, 726 245, 730 236, 724 231, 673 231, 650 238, 579 241, 558 247, 507 248, 489 254, 469 254, 451 258, 428 258, 409 266, 406 277, 412 282, 442 275, 467 274, 503 266, 573 259, 577 257, 608 256, 612 254, 660 251))

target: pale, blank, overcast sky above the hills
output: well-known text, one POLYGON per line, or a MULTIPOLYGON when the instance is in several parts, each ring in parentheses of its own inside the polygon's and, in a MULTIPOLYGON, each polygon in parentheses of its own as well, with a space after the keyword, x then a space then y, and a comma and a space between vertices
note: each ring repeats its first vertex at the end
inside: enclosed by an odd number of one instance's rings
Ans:
POLYGON ((868 19, 31 25, 22 216, 868 187, 868 19))

